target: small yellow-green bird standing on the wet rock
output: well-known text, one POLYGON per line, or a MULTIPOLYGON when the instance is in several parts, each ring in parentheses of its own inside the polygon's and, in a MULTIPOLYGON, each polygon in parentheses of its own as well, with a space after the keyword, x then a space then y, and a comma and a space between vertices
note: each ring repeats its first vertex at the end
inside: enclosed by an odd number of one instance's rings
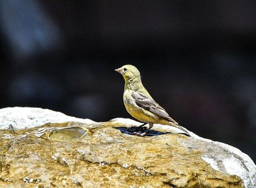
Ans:
POLYGON ((138 128, 149 124, 149 128, 144 133, 134 132, 137 136, 145 136, 154 124, 170 125, 182 130, 187 136, 191 136, 183 127, 171 118, 152 96, 148 93, 142 84, 140 72, 133 65, 124 65, 119 69, 124 80, 125 87, 123 93, 123 102, 128 113, 137 120, 144 122, 138 128))

